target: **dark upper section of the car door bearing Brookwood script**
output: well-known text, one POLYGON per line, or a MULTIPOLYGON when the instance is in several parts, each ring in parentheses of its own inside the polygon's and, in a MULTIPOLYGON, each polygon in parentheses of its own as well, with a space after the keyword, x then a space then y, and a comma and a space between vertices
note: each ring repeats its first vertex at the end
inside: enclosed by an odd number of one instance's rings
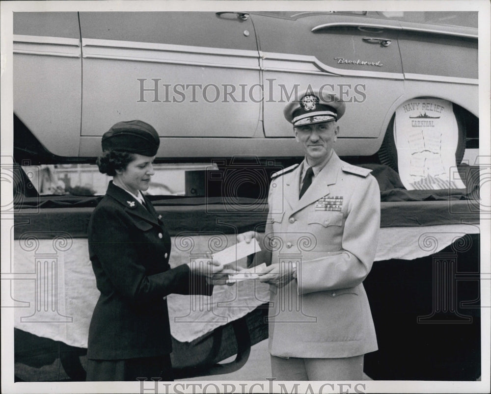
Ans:
MULTIPOLYGON (((366 18, 358 16, 326 14, 288 20, 274 18, 273 15, 251 13, 258 35, 259 50, 262 52, 314 56, 335 75, 343 75, 351 70, 356 71, 356 75, 360 77, 365 72, 402 73, 397 46, 397 29, 387 29, 377 33, 362 31, 359 27, 366 23, 366 18), (316 29, 317 26, 326 24, 331 26, 316 29), (292 34, 285 34, 288 31, 292 31, 292 34), (363 41, 363 38, 372 35, 391 39, 392 42, 387 47, 382 47, 363 41), (340 62, 341 58, 355 61, 360 59, 375 64, 344 63, 340 62)), ((371 23, 378 21, 374 19, 371 23)), ((398 27, 397 22, 388 21, 386 24, 398 27)), ((394 75, 393 78, 402 78, 402 76, 394 75)))

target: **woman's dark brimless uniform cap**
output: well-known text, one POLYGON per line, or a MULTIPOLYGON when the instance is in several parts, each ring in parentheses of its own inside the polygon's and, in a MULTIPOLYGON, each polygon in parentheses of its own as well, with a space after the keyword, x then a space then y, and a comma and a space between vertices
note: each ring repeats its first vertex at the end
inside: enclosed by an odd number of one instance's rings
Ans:
POLYGON ((159 149, 159 134, 141 120, 118 122, 102 136, 103 151, 122 151, 143 156, 155 156, 159 149))

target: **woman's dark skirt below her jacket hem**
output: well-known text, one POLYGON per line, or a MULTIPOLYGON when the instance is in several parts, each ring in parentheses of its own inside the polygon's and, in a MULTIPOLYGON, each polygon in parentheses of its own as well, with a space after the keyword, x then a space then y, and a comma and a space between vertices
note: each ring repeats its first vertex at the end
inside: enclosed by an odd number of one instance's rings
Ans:
POLYGON ((136 378, 173 381, 170 355, 125 360, 87 360, 87 381, 136 381, 136 378))

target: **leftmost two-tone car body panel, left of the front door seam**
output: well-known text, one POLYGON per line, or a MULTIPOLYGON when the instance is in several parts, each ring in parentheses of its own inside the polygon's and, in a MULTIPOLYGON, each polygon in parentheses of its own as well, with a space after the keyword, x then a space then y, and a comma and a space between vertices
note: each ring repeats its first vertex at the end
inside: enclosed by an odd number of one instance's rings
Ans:
POLYGON ((77 12, 14 13, 14 113, 55 155, 79 156, 82 53, 77 12))

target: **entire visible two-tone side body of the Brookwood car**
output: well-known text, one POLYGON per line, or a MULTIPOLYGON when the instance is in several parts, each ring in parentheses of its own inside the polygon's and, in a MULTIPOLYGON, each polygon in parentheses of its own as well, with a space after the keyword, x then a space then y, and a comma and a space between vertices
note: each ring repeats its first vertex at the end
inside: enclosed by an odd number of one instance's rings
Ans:
POLYGON ((409 99, 478 116, 476 13, 454 14, 16 13, 14 113, 66 158, 99 155, 131 119, 158 130, 166 160, 296 157, 283 107, 324 86, 347 102, 337 152, 370 156, 409 99))

